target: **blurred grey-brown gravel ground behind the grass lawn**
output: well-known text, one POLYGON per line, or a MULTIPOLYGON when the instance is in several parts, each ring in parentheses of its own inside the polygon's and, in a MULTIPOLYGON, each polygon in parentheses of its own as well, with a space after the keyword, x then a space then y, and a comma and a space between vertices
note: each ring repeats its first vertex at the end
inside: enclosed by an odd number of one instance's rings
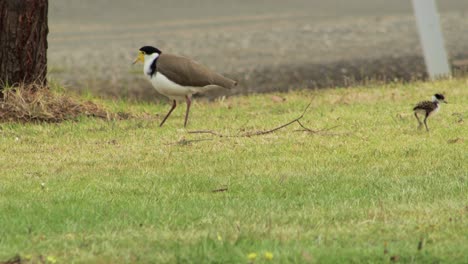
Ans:
MULTIPOLYGON (((462 74, 468 1, 437 4, 462 74)), ((410 0, 50 0, 49 28, 49 78, 112 98, 163 98, 131 64, 145 45, 238 80, 229 95, 426 77, 410 0)))

